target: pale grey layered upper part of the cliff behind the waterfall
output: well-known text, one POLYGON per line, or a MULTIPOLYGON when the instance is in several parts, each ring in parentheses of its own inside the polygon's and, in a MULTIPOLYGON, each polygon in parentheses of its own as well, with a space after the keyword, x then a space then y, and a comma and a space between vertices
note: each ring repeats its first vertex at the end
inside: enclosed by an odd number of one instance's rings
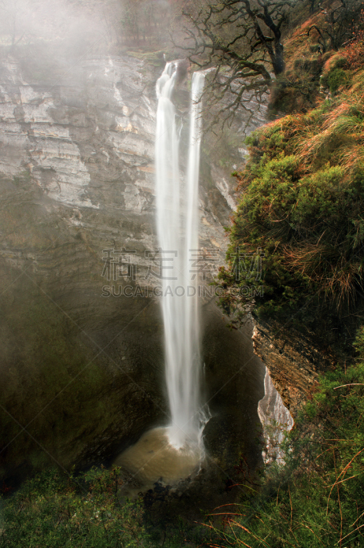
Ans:
MULTIPOLYGON (((25 81, 15 61, 1 70, 0 171, 8 197, 36 192, 45 216, 56 214, 72 238, 87 240, 100 265, 112 245, 136 249, 138 281, 149 266, 143 251, 156 248, 154 84, 161 70, 150 73, 134 58, 100 56, 73 70, 69 81, 48 86, 25 81)), ((234 193, 231 166, 219 169, 218 160, 202 180, 201 238, 223 250, 222 225, 234 193)), ((5 234, 5 247, 12 248, 9 238, 5 234)), ((19 253, 12 266, 23 261, 19 253)))

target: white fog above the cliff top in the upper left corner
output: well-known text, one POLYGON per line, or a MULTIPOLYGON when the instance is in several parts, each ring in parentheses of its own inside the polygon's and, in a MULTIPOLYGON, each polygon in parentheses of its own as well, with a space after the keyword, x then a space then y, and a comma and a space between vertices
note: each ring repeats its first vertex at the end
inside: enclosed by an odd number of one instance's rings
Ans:
POLYGON ((167 0, 2 0, 1 55, 47 55, 54 62, 119 55, 165 44, 178 3, 167 0))

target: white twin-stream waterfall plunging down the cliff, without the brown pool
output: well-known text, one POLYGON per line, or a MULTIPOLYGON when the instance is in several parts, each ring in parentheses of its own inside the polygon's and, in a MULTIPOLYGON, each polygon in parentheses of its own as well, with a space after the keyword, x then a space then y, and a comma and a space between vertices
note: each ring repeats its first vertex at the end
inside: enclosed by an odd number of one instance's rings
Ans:
POLYGON ((171 424, 169 443, 199 447, 206 424, 200 398, 201 356, 197 279, 191 279, 191 253, 197 253, 199 147, 204 73, 194 73, 191 89, 189 162, 184 184, 178 158, 178 128, 171 96, 177 63, 167 63, 158 79, 156 127, 156 216, 162 269, 165 375, 171 424), (176 291, 177 290, 177 291, 176 291))

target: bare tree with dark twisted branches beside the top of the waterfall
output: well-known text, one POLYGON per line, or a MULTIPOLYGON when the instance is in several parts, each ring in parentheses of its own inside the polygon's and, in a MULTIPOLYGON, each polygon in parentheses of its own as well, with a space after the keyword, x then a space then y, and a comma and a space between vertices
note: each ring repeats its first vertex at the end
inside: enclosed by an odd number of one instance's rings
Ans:
MULTIPOLYGON (((226 119, 260 99, 284 73, 282 29, 294 0, 197 0, 182 9, 178 47, 200 69, 210 69, 208 102, 228 98, 226 119)), ((177 44, 175 44, 177 45, 177 44)))

